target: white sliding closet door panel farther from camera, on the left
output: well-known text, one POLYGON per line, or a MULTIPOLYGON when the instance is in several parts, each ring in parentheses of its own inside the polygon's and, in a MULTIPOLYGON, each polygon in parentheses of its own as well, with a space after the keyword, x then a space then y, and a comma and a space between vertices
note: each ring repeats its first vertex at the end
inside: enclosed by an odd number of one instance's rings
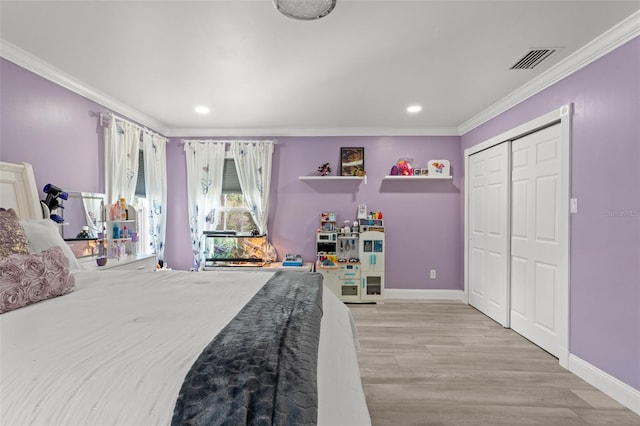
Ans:
POLYGON ((509 144, 469 157, 469 303, 509 326, 509 144))

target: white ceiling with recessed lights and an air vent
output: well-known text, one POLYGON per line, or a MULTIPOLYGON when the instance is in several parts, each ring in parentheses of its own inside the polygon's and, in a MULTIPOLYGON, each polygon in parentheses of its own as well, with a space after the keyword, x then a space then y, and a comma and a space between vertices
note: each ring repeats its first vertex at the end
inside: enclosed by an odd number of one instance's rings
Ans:
POLYGON ((296 21, 271 0, 2 1, 0 37, 4 57, 166 135, 460 134, 639 9, 338 0, 296 21), (509 70, 539 47, 561 49, 509 70))

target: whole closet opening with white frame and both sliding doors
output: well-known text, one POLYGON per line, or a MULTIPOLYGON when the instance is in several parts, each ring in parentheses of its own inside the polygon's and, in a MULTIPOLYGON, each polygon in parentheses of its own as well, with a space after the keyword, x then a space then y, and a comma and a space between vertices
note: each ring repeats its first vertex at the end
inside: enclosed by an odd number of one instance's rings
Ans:
POLYGON ((465 151, 467 300, 564 366, 569 113, 562 107, 465 151))

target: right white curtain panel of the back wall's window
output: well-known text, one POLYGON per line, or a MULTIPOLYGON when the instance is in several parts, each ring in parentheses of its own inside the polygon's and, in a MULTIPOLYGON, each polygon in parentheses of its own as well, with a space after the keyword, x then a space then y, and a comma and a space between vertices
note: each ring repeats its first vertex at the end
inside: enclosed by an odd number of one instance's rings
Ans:
POLYGON ((235 141, 231 152, 251 216, 260 234, 267 235, 273 141, 235 141))

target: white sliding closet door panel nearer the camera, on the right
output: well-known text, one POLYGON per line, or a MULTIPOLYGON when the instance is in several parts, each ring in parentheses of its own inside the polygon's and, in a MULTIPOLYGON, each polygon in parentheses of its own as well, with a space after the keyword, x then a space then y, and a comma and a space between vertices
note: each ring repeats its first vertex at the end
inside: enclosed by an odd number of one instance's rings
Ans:
POLYGON ((559 356, 562 276, 560 125, 511 143, 511 328, 559 356))

